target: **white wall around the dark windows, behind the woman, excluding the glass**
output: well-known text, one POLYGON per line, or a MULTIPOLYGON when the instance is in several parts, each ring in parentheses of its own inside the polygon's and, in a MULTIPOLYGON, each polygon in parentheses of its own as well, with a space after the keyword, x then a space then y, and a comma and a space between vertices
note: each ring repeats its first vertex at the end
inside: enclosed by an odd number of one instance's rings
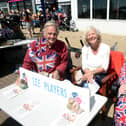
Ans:
POLYGON ((79 30, 85 31, 90 25, 98 28, 102 33, 126 35, 126 20, 78 19, 77 0, 71 0, 71 15, 79 30))

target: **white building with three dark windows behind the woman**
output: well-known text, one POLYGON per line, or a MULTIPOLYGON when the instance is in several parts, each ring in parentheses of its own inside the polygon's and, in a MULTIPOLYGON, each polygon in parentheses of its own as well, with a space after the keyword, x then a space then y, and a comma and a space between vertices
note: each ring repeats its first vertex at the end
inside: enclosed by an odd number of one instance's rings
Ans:
POLYGON ((92 25, 103 33, 126 35, 126 0, 71 0, 71 13, 81 31, 92 25))

